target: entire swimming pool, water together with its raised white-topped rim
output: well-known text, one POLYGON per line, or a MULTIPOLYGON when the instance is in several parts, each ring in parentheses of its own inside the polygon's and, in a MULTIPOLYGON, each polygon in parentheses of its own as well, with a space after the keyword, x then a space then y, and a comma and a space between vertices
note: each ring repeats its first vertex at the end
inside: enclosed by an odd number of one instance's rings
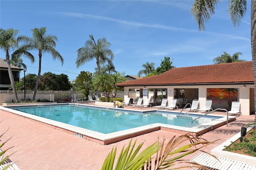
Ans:
POLYGON ((192 123, 192 119, 202 114, 182 113, 178 117, 177 112, 164 110, 135 111, 90 105, 15 106, 4 107, 4 110, 101 144, 110 144, 160 129, 181 134, 203 134, 226 123, 225 117, 216 115, 207 115, 192 123))

